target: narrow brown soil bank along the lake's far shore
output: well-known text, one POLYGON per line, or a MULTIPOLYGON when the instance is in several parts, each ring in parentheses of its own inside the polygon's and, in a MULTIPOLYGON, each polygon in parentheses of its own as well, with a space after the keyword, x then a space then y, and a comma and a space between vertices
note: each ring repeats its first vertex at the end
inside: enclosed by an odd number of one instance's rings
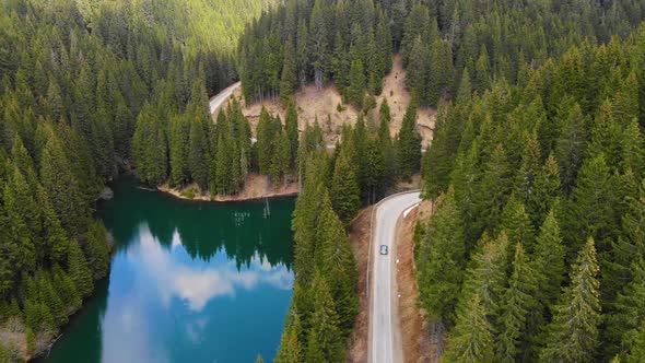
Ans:
POLYGON ((200 194, 199 187, 195 184, 188 185, 183 189, 173 189, 167 184, 159 186, 162 192, 169 194, 179 199, 202 200, 202 201, 244 201, 273 197, 294 196, 298 191, 297 183, 288 180, 286 185, 280 184, 274 186, 269 178, 259 174, 249 174, 242 191, 234 196, 215 196, 210 194, 200 194), (192 191, 192 192, 191 192, 192 191))

